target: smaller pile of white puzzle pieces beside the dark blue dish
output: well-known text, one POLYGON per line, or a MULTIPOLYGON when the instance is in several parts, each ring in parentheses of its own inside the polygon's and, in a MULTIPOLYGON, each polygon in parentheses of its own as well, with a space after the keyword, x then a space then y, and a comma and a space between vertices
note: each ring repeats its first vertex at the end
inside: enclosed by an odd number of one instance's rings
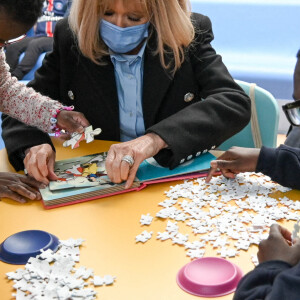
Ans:
POLYGON ((41 250, 40 255, 28 260, 24 269, 6 273, 14 281, 13 297, 17 300, 96 299, 96 291, 88 286, 111 285, 116 277, 95 276, 93 269, 83 266, 74 268, 79 262, 82 242, 82 239, 60 241, 56 252, 41 250))

